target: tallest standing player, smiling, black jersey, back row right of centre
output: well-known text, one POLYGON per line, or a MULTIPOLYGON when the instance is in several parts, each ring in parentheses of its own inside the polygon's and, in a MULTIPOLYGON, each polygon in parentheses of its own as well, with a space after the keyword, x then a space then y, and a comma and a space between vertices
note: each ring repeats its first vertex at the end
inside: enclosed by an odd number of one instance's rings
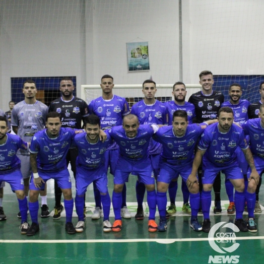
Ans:
MULTIPOLYGON (((196 120, 193 122, 201 123, 209 119, 217 118, 217 113, 221 104, 224 102, 224 95, 221 92, 213 91, 213 74, 210 71, 203 71, 199 75, 202 91, 194 93, 190 96, 189 102, 194 104, 196 120)), ((202 166, 198 170, 200 182, 200 191, 202 191, 202 166)), ((215 208, 214 213, 222 212, 221 208, 221 173, 219 172, 214 182, 215 191, 215 208)))

